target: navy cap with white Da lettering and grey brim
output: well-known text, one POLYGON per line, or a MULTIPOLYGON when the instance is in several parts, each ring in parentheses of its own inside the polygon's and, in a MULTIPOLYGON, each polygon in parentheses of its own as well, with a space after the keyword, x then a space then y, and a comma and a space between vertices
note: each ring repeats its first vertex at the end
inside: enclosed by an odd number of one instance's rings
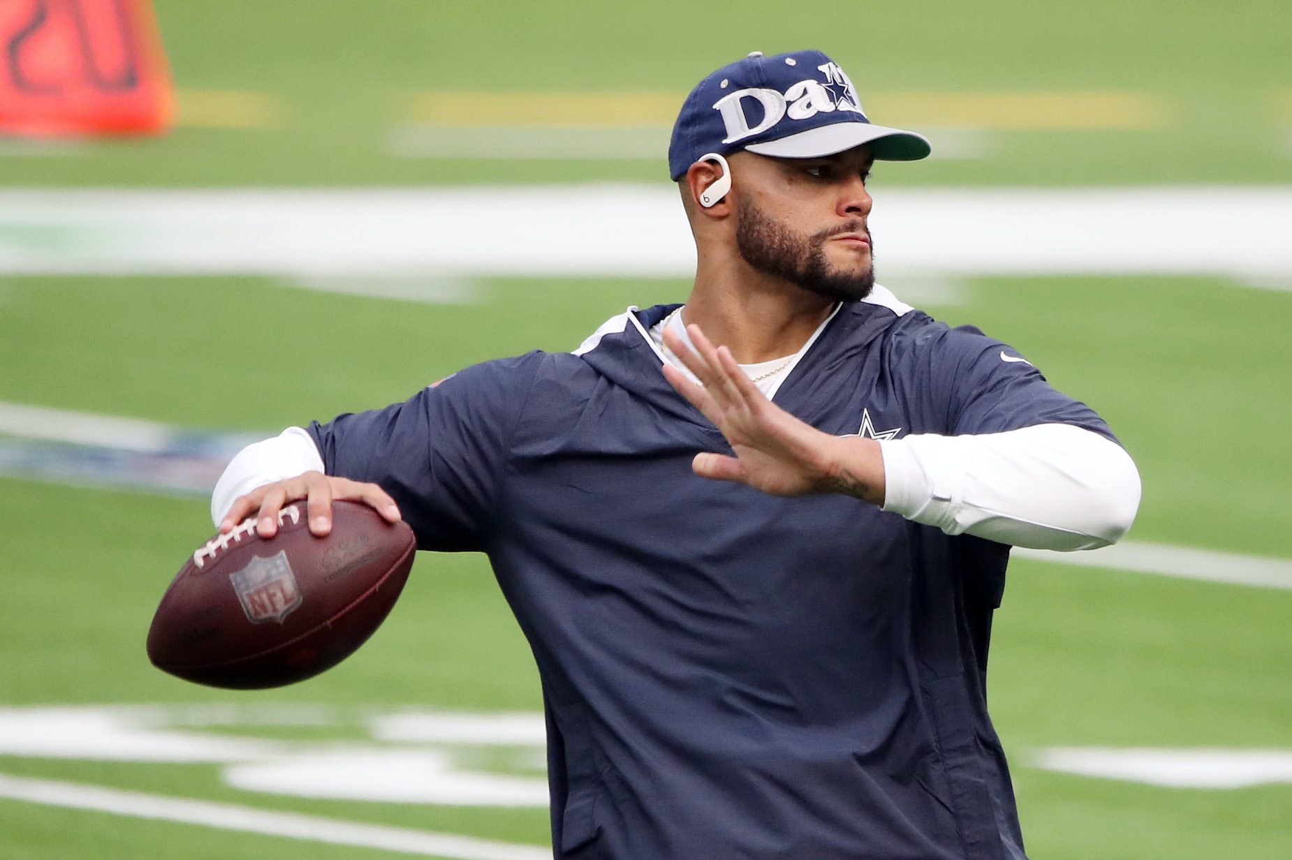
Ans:
POLYGON ((915 161, 930 151, 920 134, 871 123, 853 81, 819 50, 755 52, 686 97, 668 145, 668 170, 680 179, 709 152, 810 159, 862 143, 885 161, 915 161))

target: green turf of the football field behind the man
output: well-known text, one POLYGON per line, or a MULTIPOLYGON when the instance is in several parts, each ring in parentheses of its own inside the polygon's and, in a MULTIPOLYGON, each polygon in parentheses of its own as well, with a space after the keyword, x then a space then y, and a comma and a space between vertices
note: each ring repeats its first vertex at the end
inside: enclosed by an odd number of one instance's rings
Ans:
MULTIPOLYGON (((1141 93, 1160 108, 1145 128, 991 130, 982 158, 882 168, 876 205, 890 183, 1292 182, 1280 137, 1292 127, 1286 3, 155 3, 177 85, 267 94, 273 121, 0 154, 0 185, 662 179, 663 159, 398 158, 385 141, 420 92, 685 90, 747 50, 808 45, 839 59, 863 101, 872 90, 1089 90, 1141 93)), ((0 403, 275 431, 402 399, 477 360, 571 349, 625 305, 686 291, 517 278, 484 282, 475 303, 426 305, 264 278, 13 276, 0 280, 0 403)), ((1292 559, 1292 292, 1214 278, 997 278, 968 283, 966 297, 928 310, 1017 346, 1136 457, 1145 496, 1133 538, 1292 559)), ((0 709, 322 704, 339 717, 309 731, 212 731, 323 741, 364 736, 373 708, 541 706, 528 650, 475 555, 421 554, 379 634, 297 687, 234 695, 163 675, 143 635, 209 532, 203 500, 0 479, 0 709)), ((1168 789, 1027 766, 1031 750, 1065 745, 1292 750, 1292 591, 1030 559, 1010 569, 991 700, 1032 859, 1292 856, 1292 783, 1168 789)), ((459 754, 475 770, 535 772, 516 750, 459 754)), ((252 793, 211 763, 0 755, 0 773, 548 838, 540 808, 252 793)), ((395 855, 0 799, 4 860, 127 856, 395 855)))

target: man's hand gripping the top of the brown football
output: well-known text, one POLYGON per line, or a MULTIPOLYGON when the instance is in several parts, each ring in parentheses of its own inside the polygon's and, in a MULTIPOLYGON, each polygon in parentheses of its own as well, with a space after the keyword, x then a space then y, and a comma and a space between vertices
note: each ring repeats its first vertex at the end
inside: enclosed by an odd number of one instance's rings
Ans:
POLYGON ((398 523, 402 517, 399 506, 376 484, 362 484, 346 478, 331 478, 320 471, 306 471, 304 475, 257 487, 245 496, 234 500, 233 507, 220 520, 220 531, 229 533, 238 523, 257 511, 256 533, 273 537, 278 533, 278 511, 283 505, 305 500, 310 532, 323 537, 332 531, 332 500, 359 501, 371 506, 388 522, 398 523))

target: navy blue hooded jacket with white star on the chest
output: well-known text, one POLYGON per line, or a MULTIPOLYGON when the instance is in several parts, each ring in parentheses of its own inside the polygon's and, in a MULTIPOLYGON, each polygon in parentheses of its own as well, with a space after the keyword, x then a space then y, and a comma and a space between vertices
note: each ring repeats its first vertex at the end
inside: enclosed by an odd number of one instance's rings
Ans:
MULTIPOLYGON (((836 435, 866 409, 899 435, 1111 438, 1001 347, 858 302, 775 402, 836 435)), ((310 433, 421 549, 488 554, 543 681, 558 859, 1023 856, 986 709, 1008 546, 693 474, 730 448, 634 325, 310 433)))

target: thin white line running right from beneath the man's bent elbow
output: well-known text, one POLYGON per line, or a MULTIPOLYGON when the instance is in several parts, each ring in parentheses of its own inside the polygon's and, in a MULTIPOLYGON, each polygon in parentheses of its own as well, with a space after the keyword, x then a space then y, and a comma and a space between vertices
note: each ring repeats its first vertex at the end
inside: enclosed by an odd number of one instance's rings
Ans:
POLYGON ((1054 553, 1052 550, 1019 549, 1014 557, 1099 567, 1112 571, 1156 573, 1186 580, 1207 580, 1230 585, 1256 585, 1271 589, 1292 589, 1292 562, 1279 558, 1216 553, 1213 550, 1171 546, 1168 544, 1142 544, 1121 541, 1112 546, 1081 553, 1054 553))

